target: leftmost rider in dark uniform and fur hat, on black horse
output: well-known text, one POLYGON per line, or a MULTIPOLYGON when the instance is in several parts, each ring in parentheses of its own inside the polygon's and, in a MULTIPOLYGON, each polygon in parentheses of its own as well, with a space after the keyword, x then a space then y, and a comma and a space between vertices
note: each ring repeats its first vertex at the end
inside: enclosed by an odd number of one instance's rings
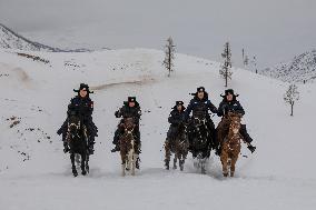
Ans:
POLYGON ((68 104, 67 111, 67 119, 62 123, 61 128, 57 131, 58 134, 62 133, 62 141, 63 141, 63 151, 68 152, 68 143, 66 141, 67 130, 68 130, 68 117, 71 111, 76 111, 79 114, 81 122, 85 124, 87 129, 88 136, 88 151, 90 154, 93 154, 93 144, 95 144, 95 137, 98 137, 98 128, 92 121, 92 112, 93 112, 93 101, 89 98, 90 93, 93 93, 89 90, 89 86, 86 83, 80 83, 79 90, 75 90, 78 92, 78 96, 70 100, 68 104))

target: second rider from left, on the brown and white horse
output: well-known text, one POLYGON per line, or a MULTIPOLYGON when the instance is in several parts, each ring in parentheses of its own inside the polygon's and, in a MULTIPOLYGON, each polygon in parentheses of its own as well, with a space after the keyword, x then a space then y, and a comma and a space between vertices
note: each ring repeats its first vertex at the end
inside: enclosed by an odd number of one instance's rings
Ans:
MULTIPOLYGON (((115 112, 115 116, 117 118, 134 118, 134 121, 136 123, 136 128, 134 129, 134 136, 136 143, 138 144, 136 153, 140 153, 140 132, 139 132, 139 120, 141 116, 141 110, 139 107, 139 103, 136 101, 136 97, 128 97, 128 100, 124 102, 124 106, 115 112)), ((118 128, 115 132, 113 141, 112 143, 116 146, 111 152, 120 151, 119 146, 119 138, 124 133, 124 119, 120 120, 118 128)))

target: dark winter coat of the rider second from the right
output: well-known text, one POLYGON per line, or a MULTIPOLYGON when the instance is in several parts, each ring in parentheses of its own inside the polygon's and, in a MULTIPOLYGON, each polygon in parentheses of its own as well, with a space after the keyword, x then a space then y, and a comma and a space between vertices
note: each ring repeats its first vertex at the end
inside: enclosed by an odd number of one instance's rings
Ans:
POLYGON ((194 118, 206 118, 210 119, 208 110, 213 113, 217 113, 217 108, 208 100, 207 93, 204 99, 199 99, 197 96, 190 101, 185 112, 185 119, 187 120, 192 112, 194 118))

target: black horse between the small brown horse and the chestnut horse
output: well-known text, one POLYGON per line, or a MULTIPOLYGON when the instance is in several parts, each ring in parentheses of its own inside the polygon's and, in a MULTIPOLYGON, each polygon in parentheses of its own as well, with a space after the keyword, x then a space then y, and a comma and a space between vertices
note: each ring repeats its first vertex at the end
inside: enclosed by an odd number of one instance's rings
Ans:
POLYGON ((188 132, 189 148, 192 153, 194 166, 206 173, 206 161, 210 156, 211 131, 207 127, 206 118, 192 118, 188 132))

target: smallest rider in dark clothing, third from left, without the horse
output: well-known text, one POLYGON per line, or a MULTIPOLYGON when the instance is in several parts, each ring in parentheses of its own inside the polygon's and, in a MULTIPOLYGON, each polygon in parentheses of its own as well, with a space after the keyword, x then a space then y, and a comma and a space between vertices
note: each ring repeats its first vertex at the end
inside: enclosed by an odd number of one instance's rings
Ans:
POLYGON ((172 108, 172 111, 169 114, 168 122, 170 123, 166 143, 170 142, 176 134, 179 132, 179 126, 184 122, 185 118, 185 107, 182 101, 176 101, 176 106, 172 108))

